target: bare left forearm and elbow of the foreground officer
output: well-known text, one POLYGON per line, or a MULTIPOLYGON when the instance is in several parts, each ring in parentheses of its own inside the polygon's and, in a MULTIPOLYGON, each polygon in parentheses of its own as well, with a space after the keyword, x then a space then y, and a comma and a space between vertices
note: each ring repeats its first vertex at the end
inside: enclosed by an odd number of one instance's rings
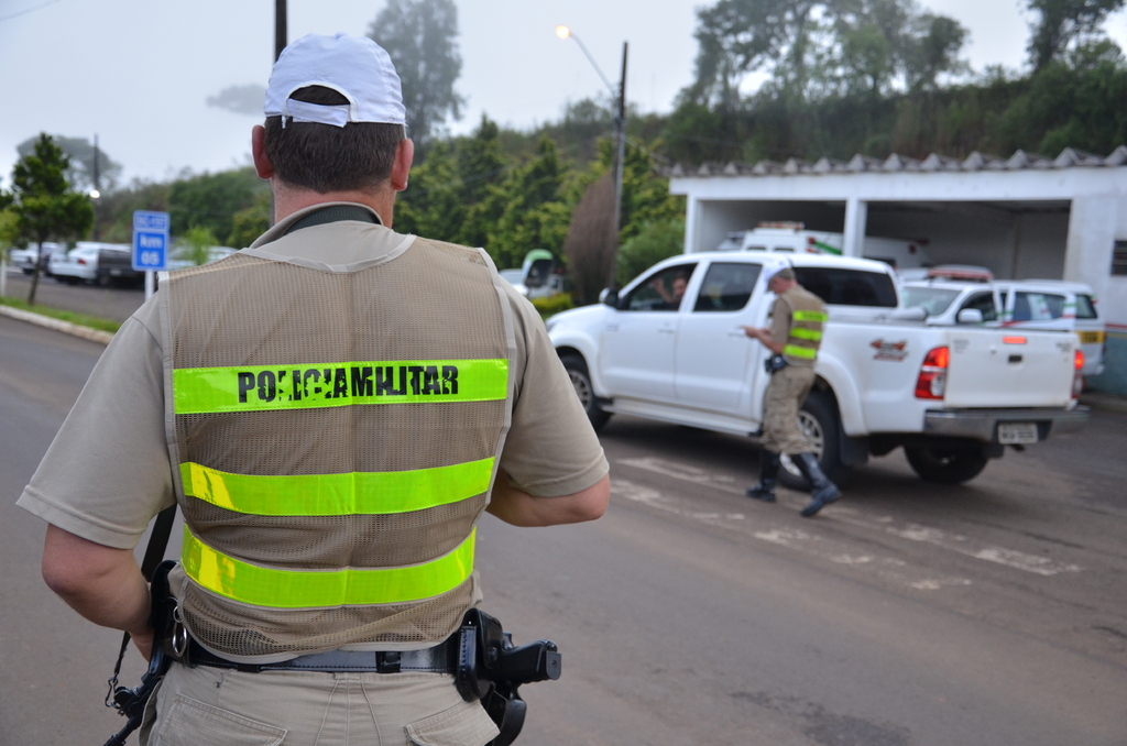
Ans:
POLYGON ((95 624, 128 632, 149 657, 149 586, 132 550, 98 544, 48 525, 43 542, 43 579, 95 624))

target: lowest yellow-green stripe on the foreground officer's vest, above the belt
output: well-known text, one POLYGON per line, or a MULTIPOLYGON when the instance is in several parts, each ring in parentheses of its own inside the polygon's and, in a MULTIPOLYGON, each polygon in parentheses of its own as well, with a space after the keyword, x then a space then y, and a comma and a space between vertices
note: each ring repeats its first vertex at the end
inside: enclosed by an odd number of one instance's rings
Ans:
POLYGON ((473 571, 477 530, 442 557, 392 568, 274 570, 219 552, 184 527, 184 571, 225 598, 252 606, 320 609, 399 604, 433 598, 462 584, 473 571))

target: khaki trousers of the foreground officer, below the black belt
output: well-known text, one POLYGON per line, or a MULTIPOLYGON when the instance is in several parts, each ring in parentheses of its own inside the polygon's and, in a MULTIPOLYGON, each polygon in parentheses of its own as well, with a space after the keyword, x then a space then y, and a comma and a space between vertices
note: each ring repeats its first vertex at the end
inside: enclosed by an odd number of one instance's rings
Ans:
POLYGON ((139 736, 141 746, 483 746, 497 727, 449 674, 172 664, 139 736))

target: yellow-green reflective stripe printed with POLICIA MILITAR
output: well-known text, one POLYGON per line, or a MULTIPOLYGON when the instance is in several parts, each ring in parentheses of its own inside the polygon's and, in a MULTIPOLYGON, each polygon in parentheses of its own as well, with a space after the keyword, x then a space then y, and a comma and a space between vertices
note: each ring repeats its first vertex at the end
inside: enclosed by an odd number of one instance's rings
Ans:
POLYGON ((349 405, 490 401, 508 393, 508 361, 364 361, 172 371, 177 415, 349 405))

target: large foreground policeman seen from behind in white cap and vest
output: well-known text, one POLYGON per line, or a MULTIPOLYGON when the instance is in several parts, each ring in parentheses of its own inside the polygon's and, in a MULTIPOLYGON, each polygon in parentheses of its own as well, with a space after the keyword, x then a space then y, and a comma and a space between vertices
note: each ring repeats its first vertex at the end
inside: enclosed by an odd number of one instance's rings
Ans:
POLYGON ((294 42, 265 115, 277 222, 162 278, 107 348, 19 500, 51 524, 44 577, 148 654, 133 548, 178 504, 190 639, 142 744, 481 746, 449 655, 478 518, 597 518, 606 460, 489 256, 391 229, 414 150, 387 52, 294 42))

